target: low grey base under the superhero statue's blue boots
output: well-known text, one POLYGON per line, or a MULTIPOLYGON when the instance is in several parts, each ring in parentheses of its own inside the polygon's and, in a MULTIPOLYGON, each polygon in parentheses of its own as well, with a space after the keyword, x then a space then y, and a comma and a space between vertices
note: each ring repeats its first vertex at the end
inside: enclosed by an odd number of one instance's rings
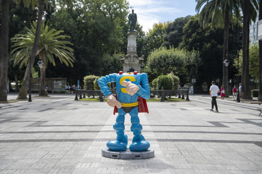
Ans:
POLYGON ((116 159, 146 159, 152 158, 155 155, 155 151, 152 148, 147 149, 146 151, 134 152, 127 149, 126 151, 111 151, 108 148, 102 148, 102 156, 116 159))

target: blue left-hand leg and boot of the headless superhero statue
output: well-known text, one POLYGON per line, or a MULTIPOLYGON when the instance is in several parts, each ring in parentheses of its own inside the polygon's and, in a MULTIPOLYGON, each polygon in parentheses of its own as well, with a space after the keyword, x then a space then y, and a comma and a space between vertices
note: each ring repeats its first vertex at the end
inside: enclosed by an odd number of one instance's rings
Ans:
POLYGON ((125 151, 127 148, 128 137, 124 134, 125 130, 125 111, 118 109, 118 116, 113 128, 116 130, 116 140, 107 142, 107 147, 112 151, 125 151))

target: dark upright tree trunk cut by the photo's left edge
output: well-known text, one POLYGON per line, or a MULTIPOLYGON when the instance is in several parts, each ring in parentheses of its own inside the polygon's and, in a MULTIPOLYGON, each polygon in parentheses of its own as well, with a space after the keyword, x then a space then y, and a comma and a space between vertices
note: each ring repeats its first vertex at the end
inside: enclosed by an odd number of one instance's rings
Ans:
POLYGON ((0 43, 0 101, 7 101, 9 0, 2 0, 0 43))

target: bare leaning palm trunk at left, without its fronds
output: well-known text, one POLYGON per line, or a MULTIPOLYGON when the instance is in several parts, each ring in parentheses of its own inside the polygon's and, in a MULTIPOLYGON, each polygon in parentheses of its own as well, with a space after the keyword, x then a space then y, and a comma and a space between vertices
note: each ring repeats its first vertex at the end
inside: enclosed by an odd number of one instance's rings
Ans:
MULTIPOLYGON (((37 18, 37 23, 36 23, 36 37, 35 37, 34 46, 33 46, 32 54, 31 54, 32 57, 36 56, 38 54, 38 44, 39 44, 39 40, 40 40, 41 26, 42 26, 42 21, 43 21, 43 19, 42 19, 43 10, 44 10, 44 0, 39 0, 38 18, 37 18)), ((21 89, 19 91, 17 99, 27 99, 26 95, 27 95, 27 89, 28 89, 28 86, 29 86, 29 77, 31 75, 31 74, 29 75, 29 71, 31 69, 31 72, 32 72, 34 60, 35 59, 29 60, 29 61, 31 61, 31 67, 29 67, 29 63, 26 66, 26 72, 25 72, 24 79, 23 79, 23 82, 22 82, 22 86, 21 86, 21 89)))

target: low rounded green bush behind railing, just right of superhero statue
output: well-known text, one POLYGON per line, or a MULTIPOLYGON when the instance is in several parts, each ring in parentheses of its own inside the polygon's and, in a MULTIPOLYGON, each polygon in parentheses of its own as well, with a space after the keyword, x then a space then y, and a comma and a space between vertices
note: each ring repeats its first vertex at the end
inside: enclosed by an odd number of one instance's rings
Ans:
POLYGON ((164 90, 172 90, 174 88, 172 77, 168 75, 160 75, 152 81, 152 87, 154 90, 161 90, 162 86, 164 87, 164 90))

